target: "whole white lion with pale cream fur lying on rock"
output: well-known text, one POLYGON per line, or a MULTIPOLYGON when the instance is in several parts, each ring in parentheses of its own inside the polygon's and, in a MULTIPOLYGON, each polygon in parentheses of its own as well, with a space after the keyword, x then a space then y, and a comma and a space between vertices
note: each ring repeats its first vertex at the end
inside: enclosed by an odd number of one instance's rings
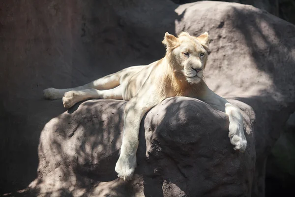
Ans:
POLYGON ((229 137, 234 149, 243 152, 247 141, 240 110, 212 92, 203 80, 210 38, 165 34, 166 56, 147 66, 131 66, 117 73, 71 89, 44 90, 46 99, 62 98, 65 108, 86 99, 128 100, 124 109, 121 152, 116 164, 118 177, 130 180, 136 167, 140 122, 145 113, 162 100, 186 96, 203 100, 229 116, 229 137))

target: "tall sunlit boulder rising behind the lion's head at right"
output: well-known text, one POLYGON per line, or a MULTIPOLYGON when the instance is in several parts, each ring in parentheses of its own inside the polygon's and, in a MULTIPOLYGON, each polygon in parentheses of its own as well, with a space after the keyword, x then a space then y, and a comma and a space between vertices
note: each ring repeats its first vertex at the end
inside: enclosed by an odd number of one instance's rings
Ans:
POLYGON ((295 111, 295 26, 237 3, 197 2, 176 11, 183 15, 176 22, 177 33, 197 35, 207 30, 213 39, 205 74, 208 86, 219 95, 247 103, 256 113, 252 196, 264 196, 267 156, 295 111))

